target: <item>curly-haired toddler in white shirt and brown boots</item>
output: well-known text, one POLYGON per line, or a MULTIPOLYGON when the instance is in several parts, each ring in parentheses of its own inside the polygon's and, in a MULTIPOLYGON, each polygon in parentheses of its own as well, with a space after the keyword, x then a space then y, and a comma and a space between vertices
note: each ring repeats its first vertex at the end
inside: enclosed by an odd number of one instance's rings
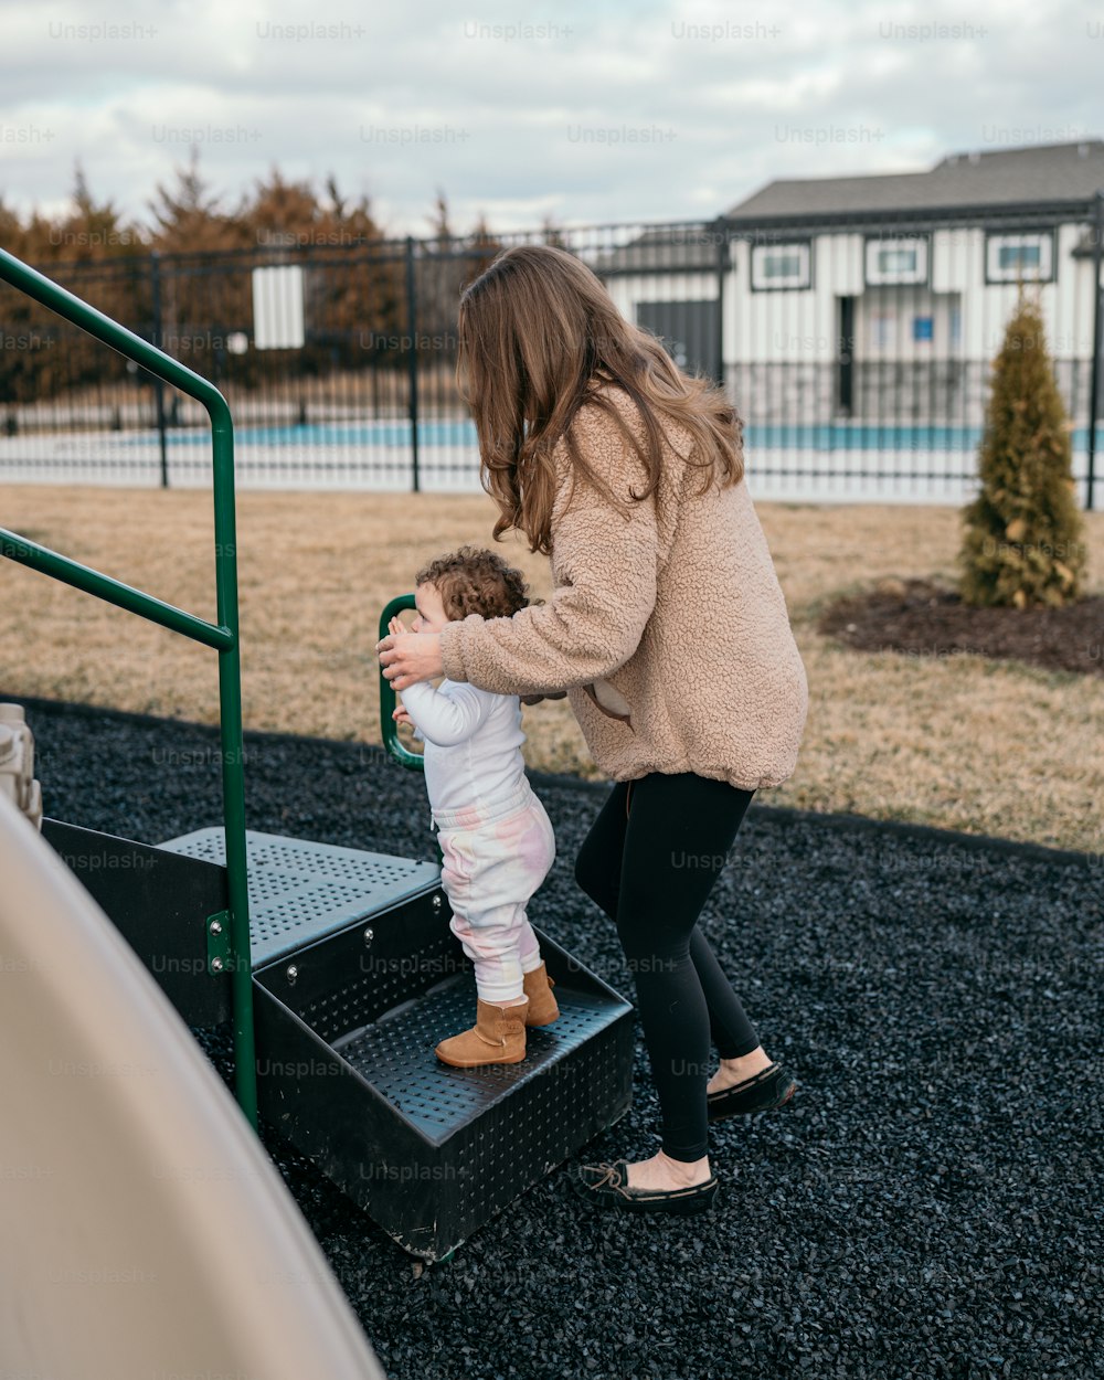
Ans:
MULTIPOLYGON (((413 632, 440 632, 471 613, 509 618, 529 604, 524 578, 491 551, 461 546, 414 577, 413 632)), ((389 632, 406 632, 392 618, 389 632)), ((540 697, 526 697, 533 702, 540 697)), ((436 1046, 454 1068, 518 1064, 526 1027, 559 1016, 526 905, 556 857, 552 822, 529 784, 516 694, 442 680, 407 686, 395 709, 425 744, 422 765, 437 828, 451 931, 475 965, 476 1023, 436 1046)))

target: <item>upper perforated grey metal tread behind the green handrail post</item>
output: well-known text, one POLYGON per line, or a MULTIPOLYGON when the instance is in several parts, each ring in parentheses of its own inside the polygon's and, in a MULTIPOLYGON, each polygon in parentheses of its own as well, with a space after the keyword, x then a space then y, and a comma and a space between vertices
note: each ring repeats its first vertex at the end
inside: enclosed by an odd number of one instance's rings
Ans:
MULTIPOLYGON (((159 847, 226 862, 221 828, 196 829, 159 847)), ((435 862, 246 831, 253 967, 378 915, 440 882, 435 862)))

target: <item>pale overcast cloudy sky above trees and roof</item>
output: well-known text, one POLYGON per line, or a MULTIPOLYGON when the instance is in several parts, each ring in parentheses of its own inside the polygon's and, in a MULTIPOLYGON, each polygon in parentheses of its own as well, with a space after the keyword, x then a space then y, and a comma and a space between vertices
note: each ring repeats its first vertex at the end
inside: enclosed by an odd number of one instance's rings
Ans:
POLYGON ((697 219, 773 178, 1104 134, 1104 6, 1047 0, 0 0, 0 195, 146 200, 195 144, 424 233, 697 219), (931 32, 934 29, 934 32, 931 32))

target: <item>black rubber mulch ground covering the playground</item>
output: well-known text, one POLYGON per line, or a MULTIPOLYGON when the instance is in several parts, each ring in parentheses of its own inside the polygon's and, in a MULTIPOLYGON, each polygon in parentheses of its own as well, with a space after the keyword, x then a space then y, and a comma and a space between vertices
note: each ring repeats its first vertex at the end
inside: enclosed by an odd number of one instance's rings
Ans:
MULTIPOLYGON (((213 730, 25 702, 47 813, 146 842, 219 821, 213 730)), ((421 778, 378 749, 250 736, 247 781, 253 828, 435 860, 421 778)), ((534 784, 560 856, 533 919, 632 996, 571 872, 603 788, 534 784)), ((752 806, 702 923, 800 1086, 713 1129, 711 1214, 600 1216, 558 1169, 415 1275, 275 1158, 396 1380, 1100 1374, 1101 882, 1098 857, 752 806)), ((585 1158, 654 1152, 643 1047, 633 1096, 585 1158)))

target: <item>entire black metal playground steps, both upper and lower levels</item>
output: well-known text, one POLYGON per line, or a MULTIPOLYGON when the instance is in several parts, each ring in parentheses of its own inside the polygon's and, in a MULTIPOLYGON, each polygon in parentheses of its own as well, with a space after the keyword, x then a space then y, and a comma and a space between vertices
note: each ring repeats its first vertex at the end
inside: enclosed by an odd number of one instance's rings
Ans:
MULTIPOLYGON (((229 1017, 207 951, 221 828, 43 834, 189 1024, 229 1017)), ((448 1254, 628 1111, 632 1006, 548 936, 560 1018, 519 1064, 450 1068, 433 1047, 473 1024, 476 987, 439 867, 254 831, 246 849, 261 1114, 404 1250, 448 1254)))

